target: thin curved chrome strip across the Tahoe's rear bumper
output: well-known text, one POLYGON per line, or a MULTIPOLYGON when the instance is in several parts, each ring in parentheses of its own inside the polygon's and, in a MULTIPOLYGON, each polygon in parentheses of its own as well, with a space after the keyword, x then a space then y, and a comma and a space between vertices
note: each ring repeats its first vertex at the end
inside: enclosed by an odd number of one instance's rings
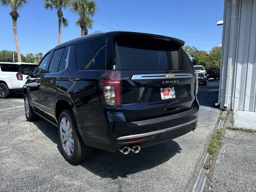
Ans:
POLYGON ((198 118, 196 118, 195 120, 192 120, 190 122, 181 124, 181 125, 177 125, 177 126, 174 126, 174 127, 169 127, 169 128, 161 129, 161 130, 157 130, 157 131, 152 131, 152 132, 141 133, 141 134, 136 134, 136 135, 128 135, 128 136, 118 137, 117 140, 133 139, 133 138, 138 138, 138 137, 146 137, 146 136, 149 136, 149 135, 155 135, 155 134, 158 134, 158 133, 163 133, 163 132, 166 132, 166 131, 170 131, 172 129, 176 129, 178 127, 182 127, 182 126, 186 126, 186 125, 192 124, 192 123, 196 122, 197 120, 198 120, 198 118))

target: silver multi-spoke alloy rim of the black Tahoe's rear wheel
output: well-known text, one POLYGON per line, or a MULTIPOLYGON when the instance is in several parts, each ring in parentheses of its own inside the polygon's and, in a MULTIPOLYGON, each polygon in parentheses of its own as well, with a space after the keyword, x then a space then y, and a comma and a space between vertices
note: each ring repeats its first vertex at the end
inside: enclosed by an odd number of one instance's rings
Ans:
POLYGON ((60 122, 60 140, 65 153, 71 156, 74 151, 74 137, 72 126, 66 117, 60 122))

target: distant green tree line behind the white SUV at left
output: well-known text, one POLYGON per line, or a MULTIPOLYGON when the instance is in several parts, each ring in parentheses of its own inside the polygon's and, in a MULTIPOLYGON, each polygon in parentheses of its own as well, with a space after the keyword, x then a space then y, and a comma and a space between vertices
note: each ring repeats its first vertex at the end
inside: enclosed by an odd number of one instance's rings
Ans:
MULTIPOLYGON (((43 58, 44 54, 42 53, 28 53, 26 56, 20 54, 22 62, 27 63, 39 63, 40 60, 43 58)), ((18 62, 18 55, 17 52, 14 51, 14 60, 18 62)), ((0 51, 0 62, 13 62, 13 51, 2 50, 0 51)))

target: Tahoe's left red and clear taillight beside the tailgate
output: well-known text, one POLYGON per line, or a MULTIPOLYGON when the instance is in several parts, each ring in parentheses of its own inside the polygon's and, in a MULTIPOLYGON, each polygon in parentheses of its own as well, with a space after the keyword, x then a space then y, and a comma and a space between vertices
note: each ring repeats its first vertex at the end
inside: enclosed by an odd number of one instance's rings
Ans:
POLYGON ((121 105, 121 73, 106 71, 100 78, 100 95, 102 102, 110 106, 121 105))

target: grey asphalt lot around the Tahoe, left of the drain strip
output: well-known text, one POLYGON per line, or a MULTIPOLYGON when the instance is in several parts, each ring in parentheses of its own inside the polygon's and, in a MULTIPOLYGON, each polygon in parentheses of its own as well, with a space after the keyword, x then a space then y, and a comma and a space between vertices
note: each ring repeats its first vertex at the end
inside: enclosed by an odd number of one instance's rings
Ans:
POLYGON ((219 110, 218 81, 198 92, 195 132, 128 155, 95 149, 82 163, 64 160, 57 128, 28 122, 19 95, 0 99, 0 191, 192 191, 219 110))

